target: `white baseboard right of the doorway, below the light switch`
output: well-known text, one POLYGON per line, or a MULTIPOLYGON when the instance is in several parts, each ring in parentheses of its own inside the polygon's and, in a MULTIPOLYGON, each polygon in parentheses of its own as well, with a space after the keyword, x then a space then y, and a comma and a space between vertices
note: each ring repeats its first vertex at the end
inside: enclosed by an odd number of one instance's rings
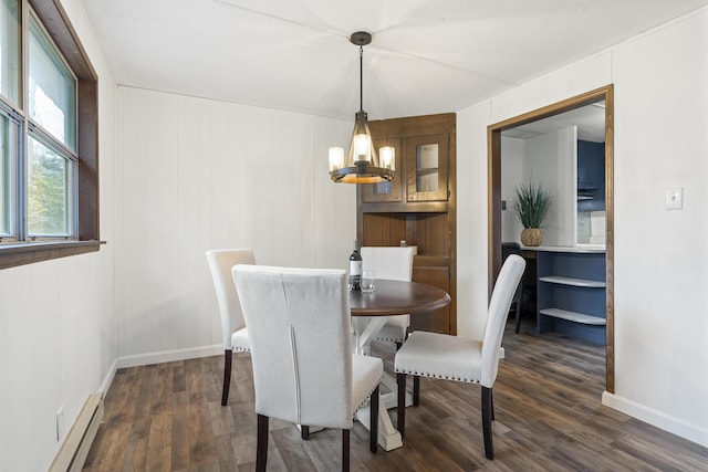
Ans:
POLYGON ((689 423, 688 421, 671 417, 663 411, 655 410, 607 391, 602 394, 602 405, 697 444, 708 447, 708 429, 701 428, 698 424, 689 423))

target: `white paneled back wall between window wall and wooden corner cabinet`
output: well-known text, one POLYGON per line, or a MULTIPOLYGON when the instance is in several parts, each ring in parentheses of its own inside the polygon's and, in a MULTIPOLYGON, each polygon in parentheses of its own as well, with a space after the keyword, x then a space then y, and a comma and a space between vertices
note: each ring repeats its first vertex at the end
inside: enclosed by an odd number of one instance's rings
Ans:
POLYGON ((346 268, 356 189, 330 180, 327 148, 352 123, 118 91, 118 366, 222 352, 208 249, 346 268))

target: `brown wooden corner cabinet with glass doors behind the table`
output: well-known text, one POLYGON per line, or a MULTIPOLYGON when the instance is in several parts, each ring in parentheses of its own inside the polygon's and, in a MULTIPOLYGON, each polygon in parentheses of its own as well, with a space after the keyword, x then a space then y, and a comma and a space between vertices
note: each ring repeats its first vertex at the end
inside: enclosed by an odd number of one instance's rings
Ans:
POLYGON ((396 149, 396 170, 391 182, 358 186, 357 238, 362 245, 417 245, 413 280, 451 297, 413 316, 412 331, 457 334, 455 126, 455 114, 369 122, 376 148, 396 149))

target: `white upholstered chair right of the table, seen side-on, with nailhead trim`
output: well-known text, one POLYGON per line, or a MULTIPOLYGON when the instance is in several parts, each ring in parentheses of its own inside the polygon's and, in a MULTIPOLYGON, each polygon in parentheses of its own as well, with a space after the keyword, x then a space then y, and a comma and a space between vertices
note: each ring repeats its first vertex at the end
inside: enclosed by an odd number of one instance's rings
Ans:
POLYGON ((398 431, 406 427, 406 375, 414 376, 413 405, 418 405, 420 376, 481 385, 482 433, 485 454, 494 458, 491 420, 494 419, 492 386, 499 369, 499 350, 507 315, 523 269, 523 258, 511 254, 499 272, 489 302, 482 340, 438 333, 414 332, 395 357, 398 382, 398 431))

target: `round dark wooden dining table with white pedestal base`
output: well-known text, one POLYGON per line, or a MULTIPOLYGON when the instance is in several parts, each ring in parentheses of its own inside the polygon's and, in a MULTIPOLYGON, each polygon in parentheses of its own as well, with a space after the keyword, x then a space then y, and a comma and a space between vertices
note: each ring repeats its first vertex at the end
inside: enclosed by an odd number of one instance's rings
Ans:
MULTIPOLYGON (((374 292, 351 291, 350 308, 354 317, 352 319, 355 335, 354 350, 357 354, 368 354, 369 344, 386 324, 387 316, 423 315, 442 308, 449 303, 450 295, 447 292, 419 282, 377 279, 374 292)), ((387 412, 388 408, 394 408, 397 403, 397 397, 394 394, 395 379, 388 373, 384 373, 382 384, 387 387, 388 392, 381 396, 384 408, 379 409, 378 444, 384 450, 391 451, 403 445, 400 433, 394 428, 387 412)), ((368 427, 366 409, 360 409, 356 418, 368 427)))

